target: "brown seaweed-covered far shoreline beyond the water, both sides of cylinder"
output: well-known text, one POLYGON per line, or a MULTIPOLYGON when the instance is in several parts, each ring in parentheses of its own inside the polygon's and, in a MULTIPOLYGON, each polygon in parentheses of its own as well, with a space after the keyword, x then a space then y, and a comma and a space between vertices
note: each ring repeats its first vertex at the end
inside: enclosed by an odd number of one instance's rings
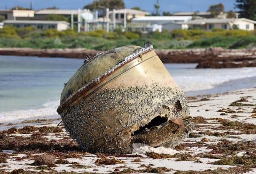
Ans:
MULTIPOLYGON (((33 49, 33 48, 0 48, 0 55, 63 57, 85 59, 86 55, 95 56, 93 49, 33 49)), ((155 49, 163 63, 202 63, 199 68, 232 68, 240 62, 256 61, 256 49, 222 49, 220 47, 198 49, 155 49), (221 62, 221 63, 219 63, 221 62), (235 63, 234 63, 235 62, 235 63), (224 65, 225 64, 225 65, 224 65)), ((240 67, 243 67, 241 64, 240 67)))

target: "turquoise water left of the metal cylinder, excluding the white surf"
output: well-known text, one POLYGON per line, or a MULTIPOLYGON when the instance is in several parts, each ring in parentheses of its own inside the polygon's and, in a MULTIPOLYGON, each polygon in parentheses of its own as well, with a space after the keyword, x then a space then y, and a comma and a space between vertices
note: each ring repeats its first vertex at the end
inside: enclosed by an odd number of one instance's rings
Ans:
POLYGON ((81 59, 0 56, 0 112, 42 108, 61 96, 81 59))

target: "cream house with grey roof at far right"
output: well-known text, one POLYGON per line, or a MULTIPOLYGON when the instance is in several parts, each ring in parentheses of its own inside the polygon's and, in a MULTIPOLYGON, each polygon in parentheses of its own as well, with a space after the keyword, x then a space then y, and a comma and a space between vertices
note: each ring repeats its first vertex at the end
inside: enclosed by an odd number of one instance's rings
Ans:
POLYGON ((254 30, 254 25, 256 21, 246 19, 246 18, 227 18, 227 19, 195 19, 192 21, 184 22, 189 28, 200 28, 202 30, 212 30, 213 28, 222 28, 226 30, 231 30, 233 28, 238 28, 240 30, 254 30))

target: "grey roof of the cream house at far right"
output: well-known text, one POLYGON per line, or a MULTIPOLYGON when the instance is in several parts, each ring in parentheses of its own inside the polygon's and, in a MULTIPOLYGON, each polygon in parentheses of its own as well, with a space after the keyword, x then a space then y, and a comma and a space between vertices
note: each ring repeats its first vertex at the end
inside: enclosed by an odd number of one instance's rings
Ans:
POLYGON ((227 19, 195 19, 192 21, 186 22, 186 24, 194 24, 194 25, 203 25, 203 24, 226 24, 229 22, 234 22, 234 18, 227 18, 227 19))

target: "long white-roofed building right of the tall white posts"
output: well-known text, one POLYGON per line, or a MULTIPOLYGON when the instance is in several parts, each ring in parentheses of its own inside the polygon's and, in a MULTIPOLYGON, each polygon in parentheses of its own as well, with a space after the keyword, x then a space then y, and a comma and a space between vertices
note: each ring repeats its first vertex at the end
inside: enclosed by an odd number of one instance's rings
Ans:
POLYGON ((187 29, 188 25, 184 24, 192 19, 192 16, 145 16, 134 18, 134 23, 149 23, 150 25, 162 25, 162 30, 187 29))

